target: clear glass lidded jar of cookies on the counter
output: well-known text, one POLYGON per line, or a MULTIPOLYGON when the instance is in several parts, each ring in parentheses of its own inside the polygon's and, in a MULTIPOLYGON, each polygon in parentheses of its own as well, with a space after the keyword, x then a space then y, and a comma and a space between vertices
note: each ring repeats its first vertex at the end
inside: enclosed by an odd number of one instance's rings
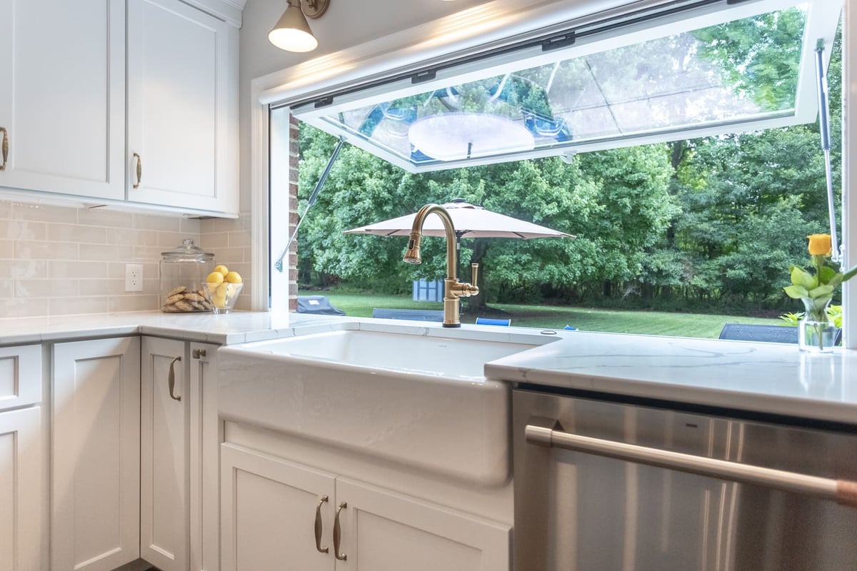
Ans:
POLYGON ((214 269, 214 254, 185 238, 182 245, 161 253, 160 308, 167 313, 210 312, 202 283, 214 269))

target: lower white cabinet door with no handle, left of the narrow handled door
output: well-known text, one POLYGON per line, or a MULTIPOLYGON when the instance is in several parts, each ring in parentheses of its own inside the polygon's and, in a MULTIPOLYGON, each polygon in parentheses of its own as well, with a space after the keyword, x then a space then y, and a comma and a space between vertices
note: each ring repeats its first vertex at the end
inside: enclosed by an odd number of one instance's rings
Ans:
POLYGON ((140 555, 140 339, 57 343, 52 372, 51 569, 140 555))

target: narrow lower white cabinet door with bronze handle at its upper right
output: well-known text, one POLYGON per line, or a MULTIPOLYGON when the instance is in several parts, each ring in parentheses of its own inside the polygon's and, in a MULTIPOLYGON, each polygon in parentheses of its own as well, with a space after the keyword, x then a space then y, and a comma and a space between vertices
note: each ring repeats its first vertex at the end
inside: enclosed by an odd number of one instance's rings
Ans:
POLYGON ((143 337, 140 556, 162 571, 189 565, 186 343, 143 337))

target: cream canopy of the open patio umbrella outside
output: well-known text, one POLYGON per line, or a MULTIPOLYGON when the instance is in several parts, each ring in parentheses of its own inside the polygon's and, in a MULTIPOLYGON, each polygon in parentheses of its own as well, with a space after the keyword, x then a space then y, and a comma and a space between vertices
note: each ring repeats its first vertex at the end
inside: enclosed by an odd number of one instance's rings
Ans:
MULTIPOLYGON (((576 236, 539 226, 525 220, 519 220, 489 211, 482 206, 471 205, 464 199, 455 199, 442 205, 452 217, 452 225, 455 226, 456 241, 462 238, 520 238, 531 240, 533 238, 575 238, 576 236)), ((373 234, 380 236, 406 236, 411 234, 416 212, 398 218, 390 218, 383 222, 376 222, 368 226, 361 226, 351 230, 345 230, 345 234, 373 234)), ((423 225, 423 235, 444 236, 443 223, 440 217, 429 216, 423 225)))

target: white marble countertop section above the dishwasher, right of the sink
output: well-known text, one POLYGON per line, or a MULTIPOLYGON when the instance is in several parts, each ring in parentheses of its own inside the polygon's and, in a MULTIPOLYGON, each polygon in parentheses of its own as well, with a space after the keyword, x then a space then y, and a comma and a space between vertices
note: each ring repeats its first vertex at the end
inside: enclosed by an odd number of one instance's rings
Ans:
POLYGON ((857 425, 857 352, 783 343, 562 331, 489 378, 857 425))

